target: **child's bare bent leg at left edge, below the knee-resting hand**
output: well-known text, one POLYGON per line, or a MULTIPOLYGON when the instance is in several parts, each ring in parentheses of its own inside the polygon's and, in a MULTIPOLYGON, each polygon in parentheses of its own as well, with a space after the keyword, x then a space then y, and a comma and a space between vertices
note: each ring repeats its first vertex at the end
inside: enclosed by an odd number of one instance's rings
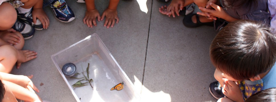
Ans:
POLYGON ((3 45, 0 52, 0 71, 10 73, 17 61, 17 50, 11 45, 3 45))

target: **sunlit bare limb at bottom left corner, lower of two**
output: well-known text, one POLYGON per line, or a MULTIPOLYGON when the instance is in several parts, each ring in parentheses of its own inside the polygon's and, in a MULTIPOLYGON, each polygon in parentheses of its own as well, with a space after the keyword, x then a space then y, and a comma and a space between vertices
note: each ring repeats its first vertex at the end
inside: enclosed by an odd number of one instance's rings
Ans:
POLYGON ((21 99, 24 101, 30 101, 30 102, 34 102, 34 101, 42 102, 42 100, 36 93, 31 92, 30 90, 23 88, 22 86, 19 86, 15 83, 5 81, 5 80, 2 80, 2 81, 9 88, 9 90, 11 90, 12 94, 17 99, 21 99))

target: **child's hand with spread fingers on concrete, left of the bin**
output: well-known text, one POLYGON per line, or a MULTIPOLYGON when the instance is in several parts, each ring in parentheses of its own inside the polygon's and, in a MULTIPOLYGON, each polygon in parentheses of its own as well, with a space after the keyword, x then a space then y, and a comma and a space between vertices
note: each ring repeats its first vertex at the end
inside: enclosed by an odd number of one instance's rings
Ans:
POLYGON ((18 59, 17 59, 17 66, 18 69, 21 65, 21 63, 24 63, 26 61, 30 61, 34 58, 36 58, 37 52, 30 51, 30 50, 18 50, 18 59))

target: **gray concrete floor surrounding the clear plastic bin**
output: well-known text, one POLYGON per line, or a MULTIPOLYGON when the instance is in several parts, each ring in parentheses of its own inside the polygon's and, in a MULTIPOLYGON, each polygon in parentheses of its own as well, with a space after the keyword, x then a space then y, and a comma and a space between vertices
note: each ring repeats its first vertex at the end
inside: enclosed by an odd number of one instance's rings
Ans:
MULTIPOLYGON (((108 2, 96 1, 100 14, 108 2)), ((187 28, 182 24, 184 16, 169 18, 159 13, 158 8, 169 3, 132 0, 120 1, 120 22, 113 28, 105 28, 103 21, 88 28, 83 24, 85 4, 74 0, 67 0, 67 4, 76 19, 59 22, 50 7, 44 8, 50 27, 36 31, 23 48, 38 52, 37 58, 12 71, 16 75, 34 75, 32 81, 43 100, 76 101, 50 56, 97 33, 141 92, 142 101, 216 101, 209 93, 209 84, 215 81, 215 68, 209 58, 209 46, 217 33, 213 27, 187 28)))

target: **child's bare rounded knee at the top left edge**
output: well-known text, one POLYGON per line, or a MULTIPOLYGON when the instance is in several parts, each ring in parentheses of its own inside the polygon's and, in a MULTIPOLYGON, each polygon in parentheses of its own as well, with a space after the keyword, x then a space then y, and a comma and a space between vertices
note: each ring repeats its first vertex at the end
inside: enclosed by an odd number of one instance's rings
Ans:
POLYGON ((0 30, 10 29, 17 19, 15 8, 10 4, 3 2, 0 5, 0 30))

